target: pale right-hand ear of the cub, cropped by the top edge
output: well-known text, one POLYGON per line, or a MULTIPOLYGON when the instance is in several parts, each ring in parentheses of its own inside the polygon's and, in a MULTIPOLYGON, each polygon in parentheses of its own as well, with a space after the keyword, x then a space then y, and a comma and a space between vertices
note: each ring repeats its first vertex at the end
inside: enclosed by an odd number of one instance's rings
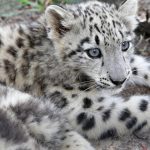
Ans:
POLYGON ((134 30, 137 26, 137 11, 138 11, 138 0, 125 0, 124 3, 119 7, 119 12, 125 25, 130 29, 134 30))

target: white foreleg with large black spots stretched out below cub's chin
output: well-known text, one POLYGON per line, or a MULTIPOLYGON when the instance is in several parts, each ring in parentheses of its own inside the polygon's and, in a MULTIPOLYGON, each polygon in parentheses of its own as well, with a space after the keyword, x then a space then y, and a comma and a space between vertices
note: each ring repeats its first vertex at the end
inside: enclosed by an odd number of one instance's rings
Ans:
POLYGON ((81 98, 68 115, 73 127, 88 139, 103 140, 138 133, 150 127, 150 95, 81 98))

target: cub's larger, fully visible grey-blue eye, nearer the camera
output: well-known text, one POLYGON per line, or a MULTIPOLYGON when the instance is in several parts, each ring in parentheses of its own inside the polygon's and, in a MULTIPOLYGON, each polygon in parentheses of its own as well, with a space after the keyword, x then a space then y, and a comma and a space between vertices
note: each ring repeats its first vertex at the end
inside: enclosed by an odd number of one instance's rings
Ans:
POLYGON ((88 49, 88 50, 86 50, 86 53, 92 59, 96 59, 96 58, 101 58, 102 57, 102 53, 101 53, 100 49, 98 49, 98 48, 88 49))

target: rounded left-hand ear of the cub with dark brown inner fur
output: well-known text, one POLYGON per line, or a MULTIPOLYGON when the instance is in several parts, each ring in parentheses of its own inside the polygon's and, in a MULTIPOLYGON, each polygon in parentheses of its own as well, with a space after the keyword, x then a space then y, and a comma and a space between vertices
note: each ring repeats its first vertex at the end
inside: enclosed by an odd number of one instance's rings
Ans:
POLYGON ((45 18, 48 27, 60 37, 71 30, 74 17, 64 8, 57 5, 50 5, 45 11, 45 18))

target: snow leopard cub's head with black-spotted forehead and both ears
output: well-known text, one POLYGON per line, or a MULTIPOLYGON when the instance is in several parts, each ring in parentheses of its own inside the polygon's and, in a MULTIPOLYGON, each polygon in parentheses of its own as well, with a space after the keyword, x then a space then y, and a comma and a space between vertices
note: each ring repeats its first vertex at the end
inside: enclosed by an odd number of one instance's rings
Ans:
POLYGON ((126 0, 119 8, 97 1, 49 6, 45 18, 56 58, 96 87, 122 87, 131 74, 137 6, 137 0, 126 0))

